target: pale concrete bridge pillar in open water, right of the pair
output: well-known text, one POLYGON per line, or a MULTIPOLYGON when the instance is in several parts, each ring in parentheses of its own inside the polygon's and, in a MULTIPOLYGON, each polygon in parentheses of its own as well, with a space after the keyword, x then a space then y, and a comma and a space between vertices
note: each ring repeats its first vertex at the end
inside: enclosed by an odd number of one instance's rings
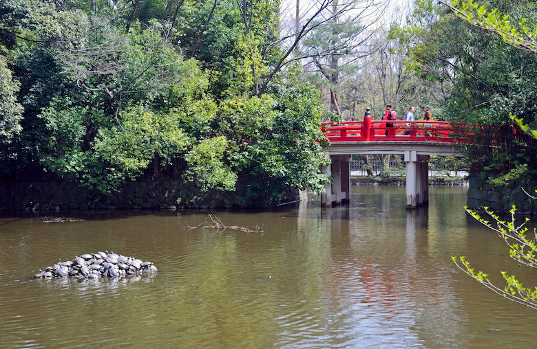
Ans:
POLYGON ((416 208, 429 202, 428 161, 429 155, 405 152, 407 208, 416 208))

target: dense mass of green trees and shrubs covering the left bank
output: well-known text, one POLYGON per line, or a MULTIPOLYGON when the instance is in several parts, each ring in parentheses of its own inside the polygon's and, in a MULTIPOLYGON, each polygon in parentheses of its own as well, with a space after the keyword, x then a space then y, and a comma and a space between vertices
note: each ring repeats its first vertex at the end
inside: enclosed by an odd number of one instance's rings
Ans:
POLYGON ((92 194, 164 175, 201 192, 249 176, 252 196, 272 199, 322 190, 319 93, 297 67, 259 90, 282 54, 278 3, 178 4, 1 1, 3 164, 39 164, 92 194))

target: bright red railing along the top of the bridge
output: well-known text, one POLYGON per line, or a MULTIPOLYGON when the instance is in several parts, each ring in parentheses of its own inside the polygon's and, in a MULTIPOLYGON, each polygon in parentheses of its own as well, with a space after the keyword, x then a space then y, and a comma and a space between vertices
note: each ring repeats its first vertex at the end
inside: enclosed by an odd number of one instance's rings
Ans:
POLYGON ((365 120, 339 122, 338 124, 325 122, 322 125, 322 130, 326 133, 330 142, 409 141, 456 143, 462 141, 462 139, 455 137, 455 128, 450 122, 445 121, 365 120))

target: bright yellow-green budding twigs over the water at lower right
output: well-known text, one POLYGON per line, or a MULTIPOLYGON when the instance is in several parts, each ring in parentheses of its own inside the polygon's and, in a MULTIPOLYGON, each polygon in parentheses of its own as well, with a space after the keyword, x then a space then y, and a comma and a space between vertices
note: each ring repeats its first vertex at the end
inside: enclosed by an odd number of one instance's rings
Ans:
MULTIPOLYGON (((525 218, 524 223, 516 225, 514 213, 516 212, 516 207, 512 207, 510 210, 511 221, 501 221, 501 219, 494 214, 494 212, 488 210, 488 207, 484 207, 485 211, 489 216, 492 217, 493 221, 496 223, 496 226, 493 226, 489 221, 481 218, 476 212, 469 210, 465 207, 465 210, 474 217, 477 221, 483 223, 489 227, 489 229, 494 230, 498 233, 498 236, 501 236, 505 243, 509 246, 509 256, 516 260, 519 264, 526 265, 527 267, 537 268, 537 230, 531 234, 531 238, 527 237, 528 229, 524 227, 525 223, 529 221, 529 218, 525 218)), ((452 256, 453 262, 456 264, 459 269, 470 275, 472 278, 491 289, 492 291, 506 297, 508 300, 513 302, 529 306, 537 310, 537 287, 534 289, 527 288, 523 286, 522 282, 519 282, 514 275, 508 275, 507 272, 501 271, 507 286, 503 289, 494 285, 488 278, 488 274, 483 273, 482 271, 474 271, 470 266, 470 263, 461 256, 459 258, 452 256)))

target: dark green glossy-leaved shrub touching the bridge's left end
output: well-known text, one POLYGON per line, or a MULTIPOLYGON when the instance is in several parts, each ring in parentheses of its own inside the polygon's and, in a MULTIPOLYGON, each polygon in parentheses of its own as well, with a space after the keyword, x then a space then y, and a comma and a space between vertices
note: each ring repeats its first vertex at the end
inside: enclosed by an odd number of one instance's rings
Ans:
POLYGON ((257 144, 249 144, 252 164, 258 164, 253 188, 271 193, 273 199, 282 194, 286 185, 314 192, 322 192, 328 182, 321 166, 328 164, 319 140, 322 105, 318 91, 310 85, 288 89, 280 98, 275 110, 272 135, 257 144))

